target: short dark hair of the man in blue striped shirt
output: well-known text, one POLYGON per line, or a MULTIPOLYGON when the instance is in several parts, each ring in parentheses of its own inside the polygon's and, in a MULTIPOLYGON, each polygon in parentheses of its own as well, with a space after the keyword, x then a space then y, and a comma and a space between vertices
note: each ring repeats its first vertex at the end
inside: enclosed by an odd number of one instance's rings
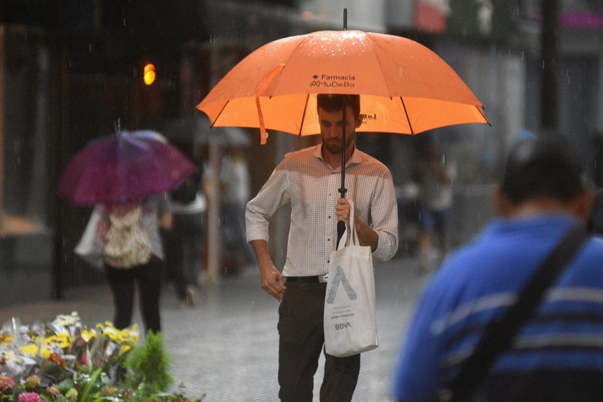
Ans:
POLYGON ((500 188, 516 205, 541 196, 568 202, 584 189, 583 173, 582 160, 567 139, 541 135, 513 146, 500 188))

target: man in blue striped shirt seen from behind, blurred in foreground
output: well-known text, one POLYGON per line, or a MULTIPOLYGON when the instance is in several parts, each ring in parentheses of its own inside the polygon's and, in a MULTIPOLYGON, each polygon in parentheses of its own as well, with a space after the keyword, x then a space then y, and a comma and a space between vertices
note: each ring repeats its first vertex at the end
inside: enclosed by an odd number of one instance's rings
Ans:
MULTIPOLYGON (((500 218, 448 256, 419 301, 394 372, 397 401, 449 397, 448 386, 473 353, 489 357, 499 349, 478 348, 478 341, 561 239, 584 231, 593 191, 568 141, 533 137, 512 148, 494 204, 500 218)), ((534 315, 478 371, 483 381, 463 401, 603 400, 603 243, 587 238, 568 258, 534 315)), ((502 332, 489 339, 497 342, 502 332)))

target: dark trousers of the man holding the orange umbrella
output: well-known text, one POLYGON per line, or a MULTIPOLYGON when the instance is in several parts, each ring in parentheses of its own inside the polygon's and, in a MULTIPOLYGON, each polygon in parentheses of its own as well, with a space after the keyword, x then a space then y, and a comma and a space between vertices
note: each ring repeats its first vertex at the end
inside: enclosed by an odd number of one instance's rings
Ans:
MULTIPOLYGON (((312 401, 314 374, 324 351, 325 293, 326 283, 287 283, 278 324, 281 401, 312 401)), ((351 401, 360 373, 360 354, 324 356, 320 401, 351 401)))

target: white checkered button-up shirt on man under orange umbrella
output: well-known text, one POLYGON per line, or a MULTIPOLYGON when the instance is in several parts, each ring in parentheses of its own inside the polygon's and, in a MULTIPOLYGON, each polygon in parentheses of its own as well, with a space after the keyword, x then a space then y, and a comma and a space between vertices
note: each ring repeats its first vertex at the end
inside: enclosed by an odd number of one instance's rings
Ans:
MULTIPOLYGON (((268 241, 268 218, 291 204, 287 259, 290 277, 329 272, 329 255, 337 243, 335 204, 341 168, 322 159, 322 145, 291 152, 274 169, 258 195, 247 203, 247 241, 268 241)), ((398 250, 398 209, 390 171, 380 161, 355 149, 346 164, 346 198, 355 204, 356 220, 379 237, 375 259, 387 261, 398 250)))

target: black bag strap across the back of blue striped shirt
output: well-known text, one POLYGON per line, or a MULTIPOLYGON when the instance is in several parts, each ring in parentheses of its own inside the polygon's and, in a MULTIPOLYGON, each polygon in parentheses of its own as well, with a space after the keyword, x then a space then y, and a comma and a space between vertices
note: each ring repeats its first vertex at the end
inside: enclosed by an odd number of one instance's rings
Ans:
POLYGON ((588 234, 577 225, 563 236, 540 268, 534 272, 516 302, 507 308, 502 317, 492 320, 484 329, 475 351, 464 360, 460 373, 447 388, 440 390, 442 401, 469 401, 473 392, 489 374, 500 353, 511 347, 515 335, 527 320, 536 313, 544 294, 572 261, 588 234))

